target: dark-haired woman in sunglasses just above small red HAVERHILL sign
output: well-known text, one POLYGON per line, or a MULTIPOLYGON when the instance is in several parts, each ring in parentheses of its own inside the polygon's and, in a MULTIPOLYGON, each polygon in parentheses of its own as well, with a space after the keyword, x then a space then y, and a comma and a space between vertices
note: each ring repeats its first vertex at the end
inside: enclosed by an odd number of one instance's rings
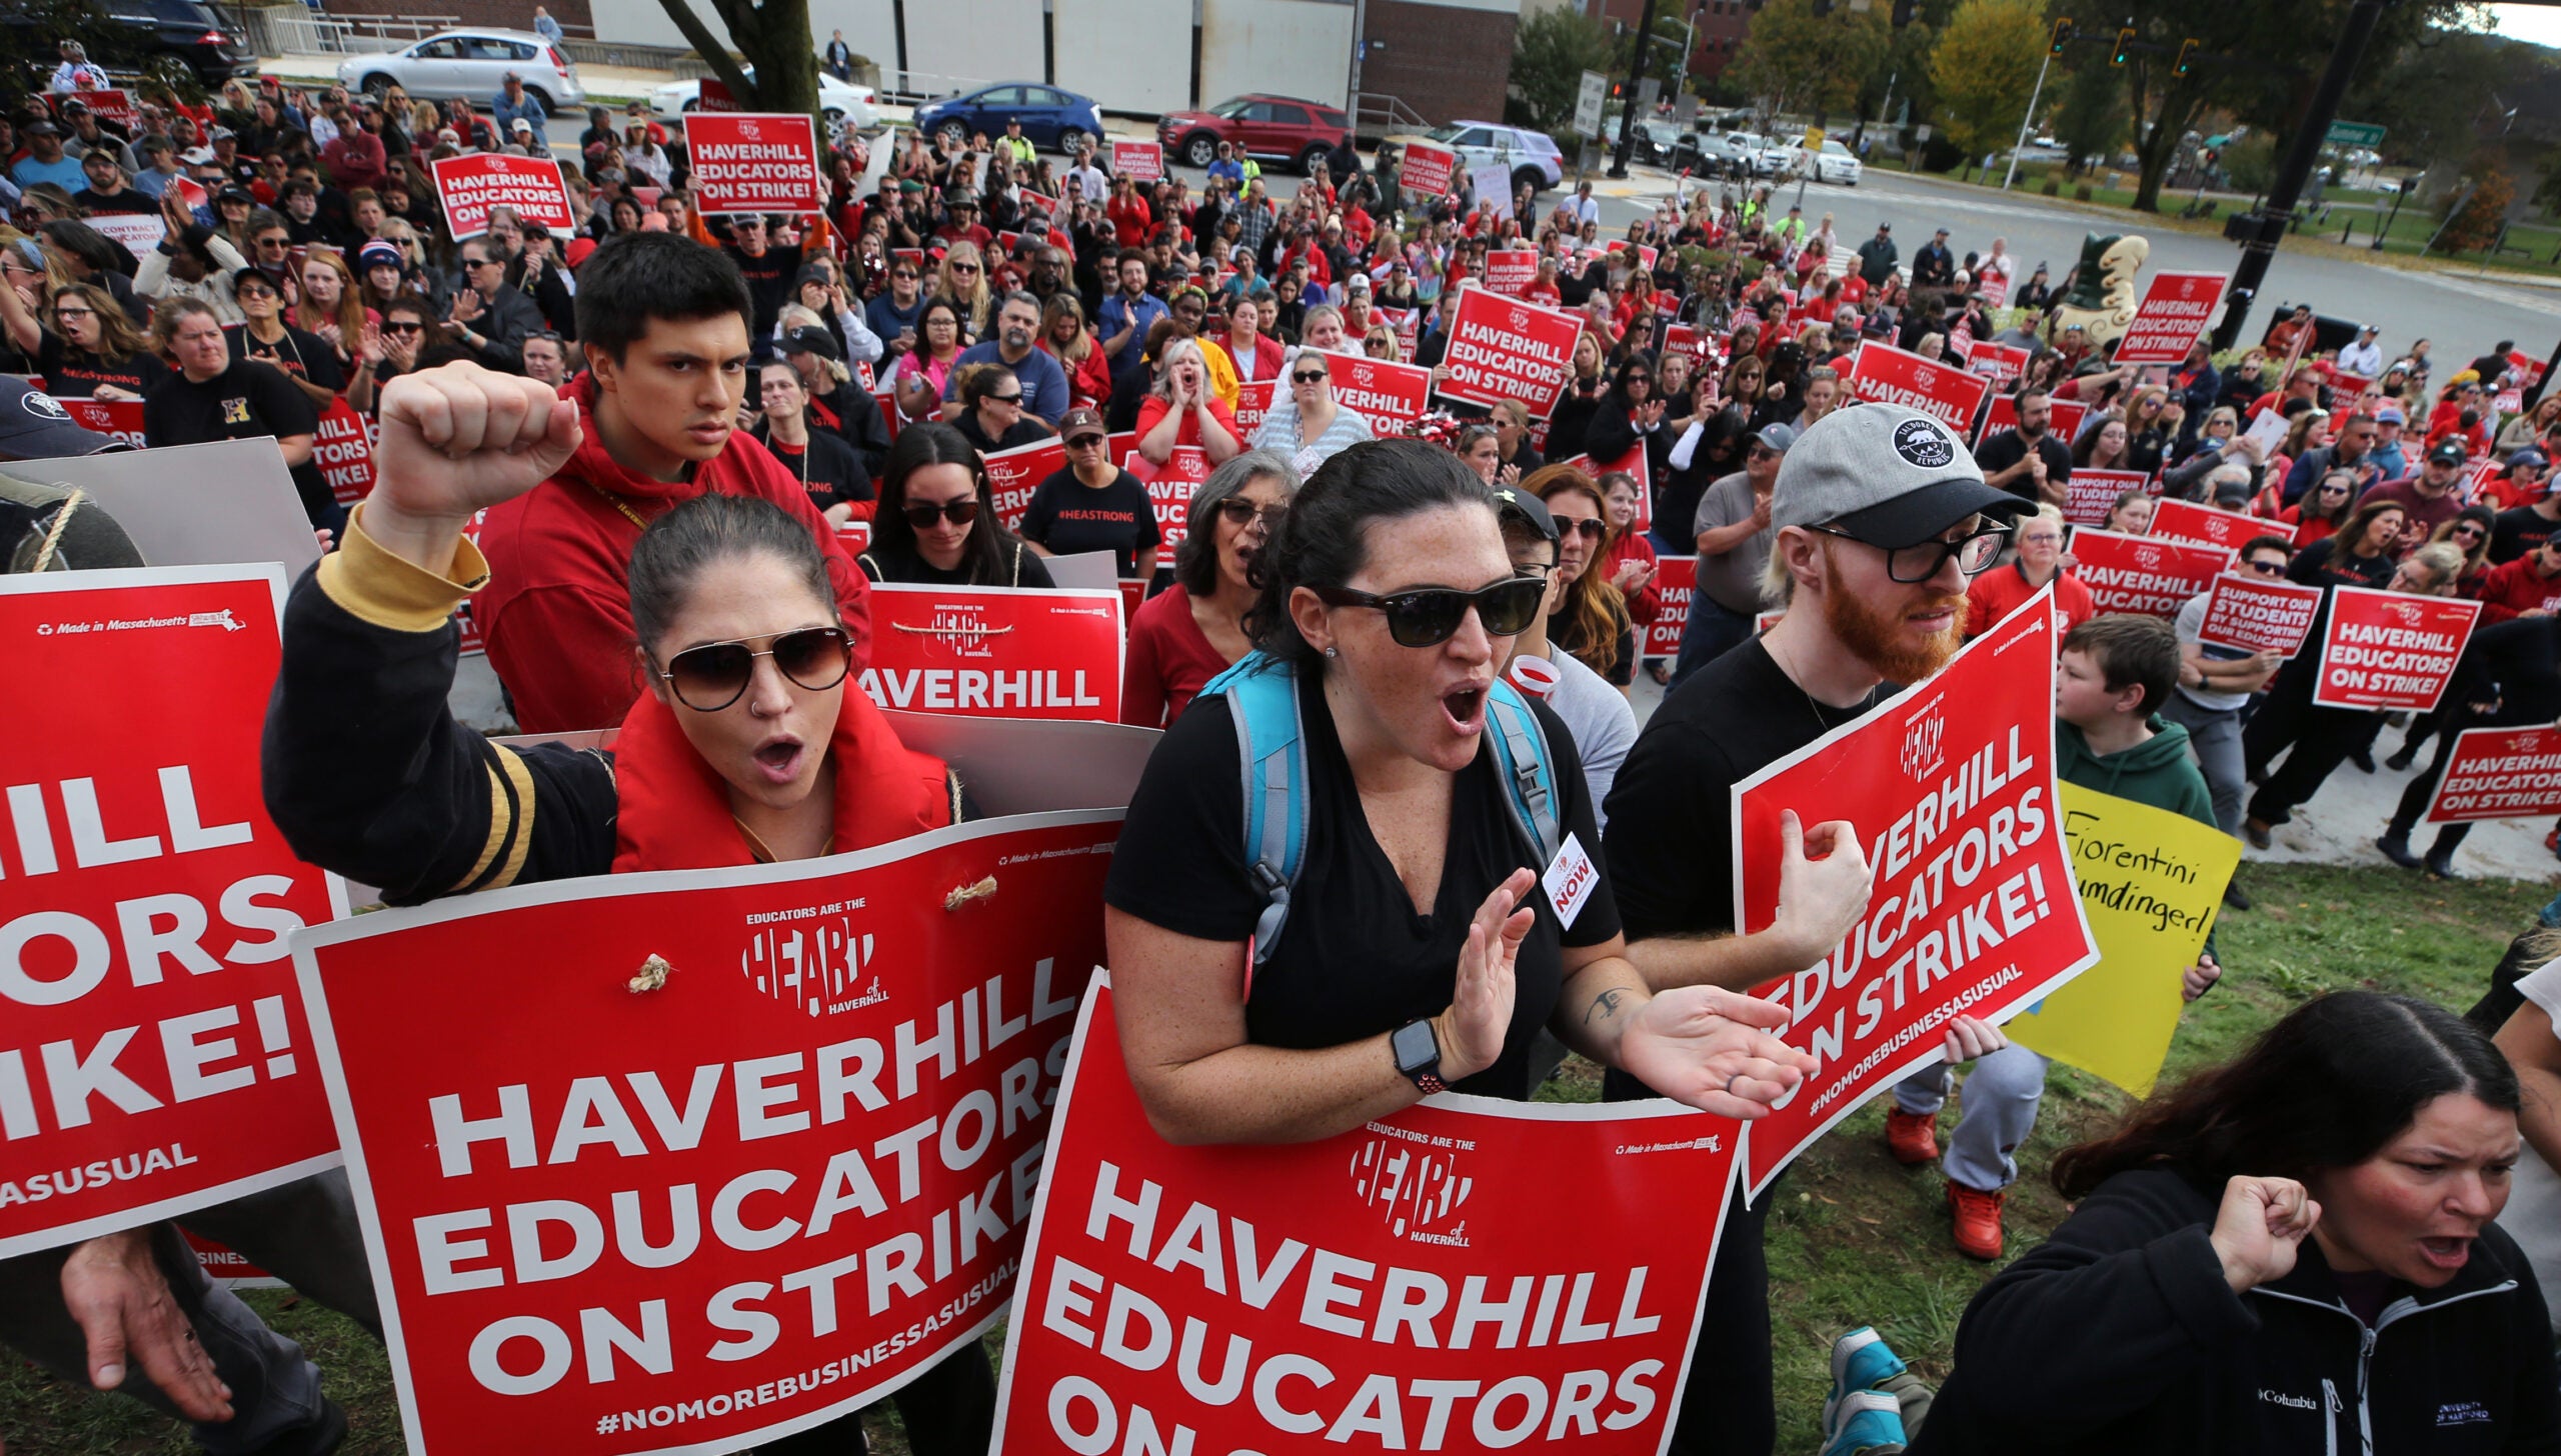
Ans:
POLYGON ((1019 535, 996 522, 978 450, 950 425, 899 430, 871 517, 873 581, 922 586, 1055 586, 1019 535))

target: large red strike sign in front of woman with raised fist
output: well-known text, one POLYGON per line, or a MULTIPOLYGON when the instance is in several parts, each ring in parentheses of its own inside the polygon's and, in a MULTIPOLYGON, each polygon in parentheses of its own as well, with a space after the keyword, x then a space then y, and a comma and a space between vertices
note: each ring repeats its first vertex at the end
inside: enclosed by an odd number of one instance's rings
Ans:
POLYGON ((738 1451, 976 1341, 1117 829, 991 819, 302 937, 410 1451, 738 1451), (996 903, 953 898, 976 885, 996 903))

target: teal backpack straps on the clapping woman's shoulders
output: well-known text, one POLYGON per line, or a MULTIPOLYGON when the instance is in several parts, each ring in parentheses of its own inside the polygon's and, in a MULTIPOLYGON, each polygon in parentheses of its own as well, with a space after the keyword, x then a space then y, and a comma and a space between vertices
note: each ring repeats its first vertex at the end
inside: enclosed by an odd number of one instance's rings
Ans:
MULTIPOLYGON (((1255 921, 1255 965, 1270 960, 1288 924, 1291 885, 1306 860, 1306 732, 1298 722, 1298 670, 1265 653, 1247 653, 1201 688, 1204 699, 1224 696, 1237 724, 1237 755, 1245 765, 1245 860, 1263 890, 1263 916, 1255 921)), ((1503 678, 1485 693, 1485 737, 1493 745, 1496 775, 1503 780, 1503 806, 1521 839, 1547 865, 1565 847, 1557 827, 1555 778, 1547 765, 1547 734, 1529 711, 1529 699, 1503 678)))

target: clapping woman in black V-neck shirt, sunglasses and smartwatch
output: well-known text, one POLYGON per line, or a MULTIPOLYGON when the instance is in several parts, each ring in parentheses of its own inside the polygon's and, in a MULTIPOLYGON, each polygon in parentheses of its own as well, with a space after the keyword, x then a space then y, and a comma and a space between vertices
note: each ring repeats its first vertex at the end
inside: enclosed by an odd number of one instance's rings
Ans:
MULTIPOLYGON (((1759 1031, 1777 1006, 1647 993, 1606 880, 1572 924, 1531 893, 1483 740, 1547 583, 1514 573, 1483 481, 1419 440, 1352 445, 1291 502, 1260 578, 1247 665, 1293 678, 1306 737, 1296 908, 1247 949, 1268 898, 1245 865, 1224 693, 1158 745, 1104 890, 1129 1077, 1163 1136, 1311 1141, 1442 1085, 1524 1100, 1539 1026, 1724 1116, 1800 1082, 1808 1059, 1759 1031)), ((1572 737, 1529 714, 1557 821, 1593 844, 1572 737)))

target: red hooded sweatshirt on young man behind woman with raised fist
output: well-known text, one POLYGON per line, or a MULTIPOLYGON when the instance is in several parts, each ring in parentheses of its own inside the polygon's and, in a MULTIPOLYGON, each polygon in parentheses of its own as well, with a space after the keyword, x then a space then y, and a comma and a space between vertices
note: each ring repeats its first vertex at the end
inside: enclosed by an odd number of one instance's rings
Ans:
POLYGON ((853 635, 855 673, 871 663, 863 573, 809 504, 809 491, 753 435, 732 430, 730 445, 694 466, 691 481, 653 481, 604 453, 594 376, 571 379, 561 397, 579 404, 586 438, 558 476, 489 507, 479 532, 489 586, 471 599, 471 619, 522 732, 615 727, 630 714, 640 696, 627 583, 633 545, 643 522, 704 491, 763 496, 809 525, 853 635))

